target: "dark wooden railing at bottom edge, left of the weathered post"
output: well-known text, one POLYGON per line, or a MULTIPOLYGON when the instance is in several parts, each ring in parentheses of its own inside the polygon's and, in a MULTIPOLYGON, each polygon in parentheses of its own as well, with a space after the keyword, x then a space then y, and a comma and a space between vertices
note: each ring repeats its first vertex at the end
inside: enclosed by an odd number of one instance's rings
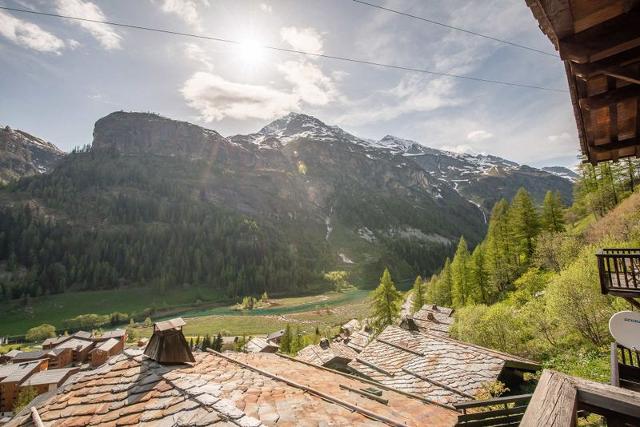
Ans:
POLYGON ((458 426, 517 426, 527 410, 530 394, 498 397, 490 400, 472 400, 453 405, 462 414, 458 426))

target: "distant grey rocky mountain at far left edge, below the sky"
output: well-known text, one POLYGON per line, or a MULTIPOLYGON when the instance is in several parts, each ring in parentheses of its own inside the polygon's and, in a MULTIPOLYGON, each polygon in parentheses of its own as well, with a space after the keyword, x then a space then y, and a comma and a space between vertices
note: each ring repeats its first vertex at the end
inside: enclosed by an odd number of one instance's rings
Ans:
POLYGON ((50 142, 9 126, 0 129, 0 183, 48 172, 62 157, 50 142))

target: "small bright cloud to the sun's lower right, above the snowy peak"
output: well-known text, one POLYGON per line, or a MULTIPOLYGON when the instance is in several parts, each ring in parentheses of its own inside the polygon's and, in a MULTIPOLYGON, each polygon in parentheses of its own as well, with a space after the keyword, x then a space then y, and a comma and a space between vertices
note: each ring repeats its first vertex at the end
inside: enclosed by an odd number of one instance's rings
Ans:
POLYGON ((293 93, 307 104, 327 105, 338 95, 333 80, 315 64, 287 61, 278 70, 293 85, 293 93))

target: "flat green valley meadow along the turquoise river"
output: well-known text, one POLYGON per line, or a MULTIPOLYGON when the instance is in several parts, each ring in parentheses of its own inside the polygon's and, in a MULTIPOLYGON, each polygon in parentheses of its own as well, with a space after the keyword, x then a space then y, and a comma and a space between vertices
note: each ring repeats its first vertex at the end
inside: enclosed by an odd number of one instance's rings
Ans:
MULTIPOLYGON (((174 289, 164 294, 149 288, 71 292, 10 304, 0 312, 0 336, 23 335, 42 323, 62 328, 64 320, 80 314, 133 314, 150 309, 156 313, 150 316, 153 320, 176 315, 189 318, 187 334, 228 331, 233 335, 256 335, 277 330, 287 322, 313 322, 312 328, 339 324, 361 311, 367 295, 368 291, 353 290, 277 298, 271 300, 269 307, 240 312, 224 296, 202 288, 174 289)), ((146 330, 141 332, 148 334, 146 330)))

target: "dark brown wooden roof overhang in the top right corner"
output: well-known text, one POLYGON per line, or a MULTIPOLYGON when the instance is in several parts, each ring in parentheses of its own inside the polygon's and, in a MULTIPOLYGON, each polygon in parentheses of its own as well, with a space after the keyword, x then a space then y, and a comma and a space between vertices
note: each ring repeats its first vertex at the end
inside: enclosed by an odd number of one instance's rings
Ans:
POLYGON ((640 157, 640 0, 526 0, 564 61, 582 153, 640 157))

